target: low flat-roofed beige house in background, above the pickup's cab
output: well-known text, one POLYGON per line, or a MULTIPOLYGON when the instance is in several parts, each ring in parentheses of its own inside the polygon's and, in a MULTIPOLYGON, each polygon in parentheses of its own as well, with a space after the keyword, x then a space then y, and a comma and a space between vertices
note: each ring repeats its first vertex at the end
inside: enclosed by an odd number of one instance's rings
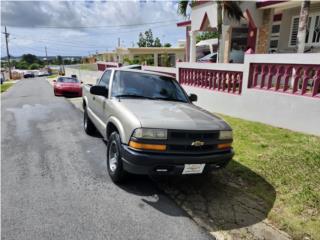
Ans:
POLYGON ((116 48, 112 52, 95 55, 97 61, 117 62, 123 65, 141 63, 153 66, 175 67, 176 61, 184 60, 184 45, 179 47, 116 48))

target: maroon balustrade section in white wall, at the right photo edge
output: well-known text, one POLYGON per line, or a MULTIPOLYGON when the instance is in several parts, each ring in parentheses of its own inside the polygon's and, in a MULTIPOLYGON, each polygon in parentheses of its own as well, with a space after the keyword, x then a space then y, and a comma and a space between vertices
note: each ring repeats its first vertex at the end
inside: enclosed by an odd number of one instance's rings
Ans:
POLYGON ((320 65, 251 63, 248 88, 320 98, 320 65))

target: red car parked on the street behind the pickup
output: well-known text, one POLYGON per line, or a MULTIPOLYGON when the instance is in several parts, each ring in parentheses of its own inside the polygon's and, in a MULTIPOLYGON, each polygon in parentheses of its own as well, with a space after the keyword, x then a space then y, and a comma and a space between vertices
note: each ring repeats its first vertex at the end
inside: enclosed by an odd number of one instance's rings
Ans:
POLYGON ((82 82, 77 78, 59 77, 57 81, 53 82, 55 96, 82 97, 82 82))

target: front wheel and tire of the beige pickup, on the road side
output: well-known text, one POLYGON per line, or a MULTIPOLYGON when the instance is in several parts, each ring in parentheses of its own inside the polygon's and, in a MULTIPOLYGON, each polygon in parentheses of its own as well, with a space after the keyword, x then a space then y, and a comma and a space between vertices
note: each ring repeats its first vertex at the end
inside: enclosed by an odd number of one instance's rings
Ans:
POLYGON ((109 137, 107 147, 107 169, 109 176, 114 183, 124 182, 127 176, 122 165, 120 147, 120 136, 117 132, 113 132, 109 137))

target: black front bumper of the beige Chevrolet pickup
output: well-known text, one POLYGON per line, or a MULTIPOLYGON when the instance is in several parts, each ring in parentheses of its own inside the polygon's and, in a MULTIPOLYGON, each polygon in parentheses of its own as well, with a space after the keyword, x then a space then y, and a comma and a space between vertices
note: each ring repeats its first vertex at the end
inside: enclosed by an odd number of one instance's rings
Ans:
POLYGON ((122 145, 121 156, 124 170, 144 175, 181 175, 184 164, 203 164, 203 172, 225 167, 232 159, 232 149, 206 155, 176 155, 165 153, 137 152, 122 145), (163 171, 166 169, 166 171, 163 171), (161 171, 160 171, 161 170, 161 171))

